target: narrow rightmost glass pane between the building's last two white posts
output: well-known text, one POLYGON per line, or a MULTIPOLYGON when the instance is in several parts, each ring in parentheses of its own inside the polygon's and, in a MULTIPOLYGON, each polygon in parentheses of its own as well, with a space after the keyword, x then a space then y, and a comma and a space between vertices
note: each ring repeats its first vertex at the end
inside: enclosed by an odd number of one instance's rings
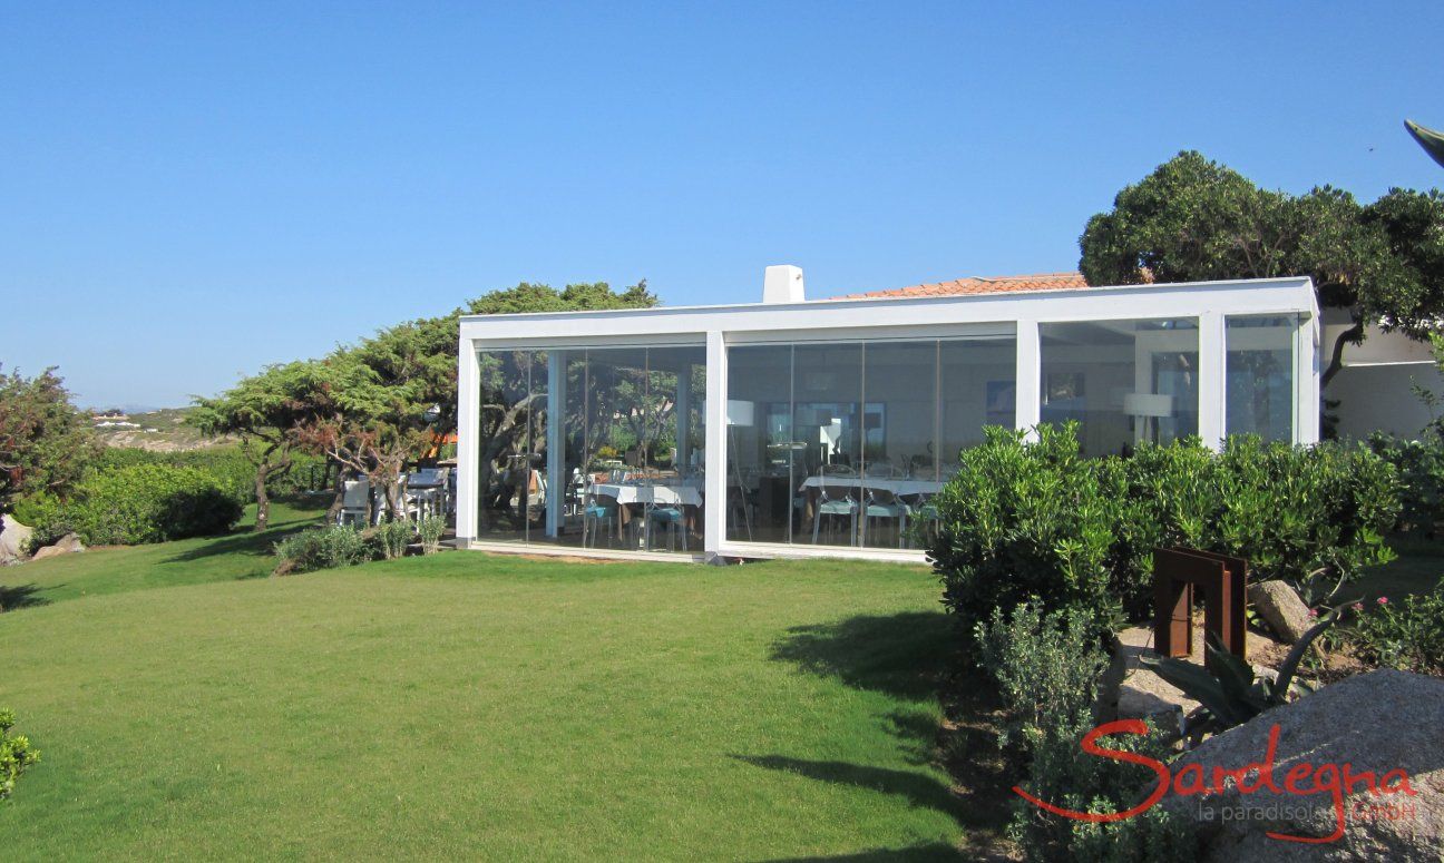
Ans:
POLYGON ((1294 440, 1294 345, 1297 315, 1229 317, 1227 434, 1294 440))

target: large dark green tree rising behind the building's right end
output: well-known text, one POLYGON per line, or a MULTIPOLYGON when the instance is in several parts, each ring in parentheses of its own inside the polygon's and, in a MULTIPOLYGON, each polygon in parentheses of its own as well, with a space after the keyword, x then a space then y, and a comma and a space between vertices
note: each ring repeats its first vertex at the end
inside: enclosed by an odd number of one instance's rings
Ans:
POLYGON ((1360 206, 1318 186, 1266 190, 1196 152, 1125 186, 1079 240, 1092 284, 1308 276, 1321 306, 1353 322, 1330 346, 1323 382, 1367 325, 1427 338, 1444 316, 1444 198, 1392 189, 1360 206))

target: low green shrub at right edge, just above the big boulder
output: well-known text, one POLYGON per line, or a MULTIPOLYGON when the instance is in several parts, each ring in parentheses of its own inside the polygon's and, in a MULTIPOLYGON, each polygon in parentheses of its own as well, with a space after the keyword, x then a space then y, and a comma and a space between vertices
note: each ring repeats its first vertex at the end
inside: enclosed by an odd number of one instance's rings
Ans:
POLYGON ((1434 590, 1360 608, 1354 648, 1375 665, 1444 677, 1444 580, 1434 590))

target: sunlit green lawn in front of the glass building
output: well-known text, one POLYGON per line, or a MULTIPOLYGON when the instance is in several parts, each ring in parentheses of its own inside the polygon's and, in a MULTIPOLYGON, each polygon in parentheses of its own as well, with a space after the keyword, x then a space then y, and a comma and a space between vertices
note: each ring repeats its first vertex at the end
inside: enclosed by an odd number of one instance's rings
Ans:
POLYGON ((962 857, 998 827, 934 763, 926 570, 254 577, 279 530, 0 570, 36 586, 0 704, 43 750, 7 860, 962 857))

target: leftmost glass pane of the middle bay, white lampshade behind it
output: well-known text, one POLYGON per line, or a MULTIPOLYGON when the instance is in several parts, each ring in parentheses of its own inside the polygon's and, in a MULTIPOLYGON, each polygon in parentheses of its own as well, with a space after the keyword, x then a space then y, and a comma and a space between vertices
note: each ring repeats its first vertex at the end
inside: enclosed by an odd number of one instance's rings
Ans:
POLYGON ((793 433, 793 346, 728 349, 726 535, 788 543, 814 444, 793 433))

